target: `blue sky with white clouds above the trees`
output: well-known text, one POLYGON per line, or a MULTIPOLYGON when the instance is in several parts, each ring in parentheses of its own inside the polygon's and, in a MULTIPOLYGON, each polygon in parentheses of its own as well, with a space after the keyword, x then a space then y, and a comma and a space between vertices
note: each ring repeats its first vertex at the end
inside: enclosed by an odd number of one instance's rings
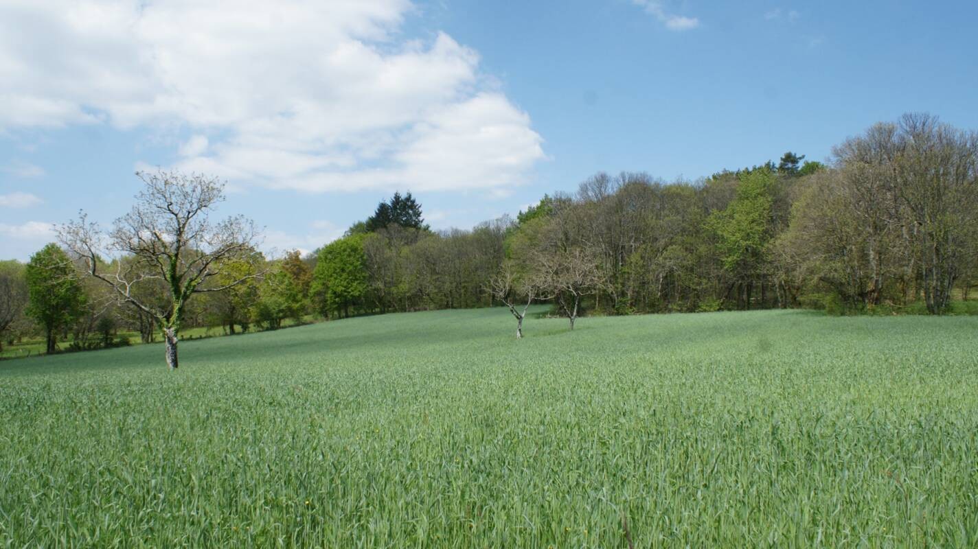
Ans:
POLYGON ((395 190, 434 229, 599 171, 695 181, 826 160, 927 111, 978 129, 974 2, 0 0, 0 259, 139 170, 221 178, 264 248, 340 236, 395 190))

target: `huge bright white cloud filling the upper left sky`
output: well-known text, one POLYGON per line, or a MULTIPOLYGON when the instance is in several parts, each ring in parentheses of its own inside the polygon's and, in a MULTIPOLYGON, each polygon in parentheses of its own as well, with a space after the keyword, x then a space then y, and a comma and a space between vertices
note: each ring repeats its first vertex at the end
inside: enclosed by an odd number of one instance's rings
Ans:
POLYGON ((176 126, 192 136, 178 167, 234 185, 520 183, 545 157, 529 116, 447 34, 400 38, 412 9, 409 0, 5 0, 0 130, 176 126))

